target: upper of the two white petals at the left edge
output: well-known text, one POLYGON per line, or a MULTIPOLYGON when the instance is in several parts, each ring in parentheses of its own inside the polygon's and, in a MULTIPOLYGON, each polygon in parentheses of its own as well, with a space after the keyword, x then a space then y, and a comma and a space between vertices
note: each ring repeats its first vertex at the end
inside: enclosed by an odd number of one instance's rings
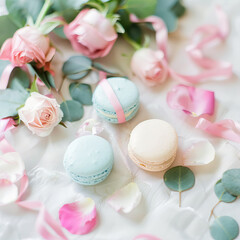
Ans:
POLYGON ((17 152, 9 152, 0 156, 0 179, 15 183, 24 174, 25 166, 17 152))

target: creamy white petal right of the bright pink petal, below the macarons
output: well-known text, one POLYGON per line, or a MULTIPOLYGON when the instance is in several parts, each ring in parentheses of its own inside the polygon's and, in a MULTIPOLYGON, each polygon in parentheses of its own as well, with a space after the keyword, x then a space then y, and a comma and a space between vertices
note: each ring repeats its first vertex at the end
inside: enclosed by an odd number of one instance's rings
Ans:
POLYGON ((108 197, 107 203, 117 212, 121 210, 124 213, 129 213, 140 203, 141 198, 142 193, 138 185, 131 182, 108 197))

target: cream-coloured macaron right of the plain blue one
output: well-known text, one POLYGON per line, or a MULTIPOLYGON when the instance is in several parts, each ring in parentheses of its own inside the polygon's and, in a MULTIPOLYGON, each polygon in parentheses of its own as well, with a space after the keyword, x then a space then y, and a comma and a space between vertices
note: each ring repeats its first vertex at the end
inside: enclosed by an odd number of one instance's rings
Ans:
POLYGON ((177 148, 175 129, 165 121, 151 119, 141 122, 132 130, 128 154, 140 168, 158 172, 173 163, 177 148))

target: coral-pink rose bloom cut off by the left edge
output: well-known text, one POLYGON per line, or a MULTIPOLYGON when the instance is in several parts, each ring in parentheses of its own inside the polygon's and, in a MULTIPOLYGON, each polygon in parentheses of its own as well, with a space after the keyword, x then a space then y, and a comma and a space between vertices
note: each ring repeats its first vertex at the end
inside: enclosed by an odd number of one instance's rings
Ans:
POLYGON ((38 68, 49 70, 55 51, 50 45, 50 39, 37 28, 23 27, 3 43, 0 59, 9 60, 16 66, 35 62, 38 68))

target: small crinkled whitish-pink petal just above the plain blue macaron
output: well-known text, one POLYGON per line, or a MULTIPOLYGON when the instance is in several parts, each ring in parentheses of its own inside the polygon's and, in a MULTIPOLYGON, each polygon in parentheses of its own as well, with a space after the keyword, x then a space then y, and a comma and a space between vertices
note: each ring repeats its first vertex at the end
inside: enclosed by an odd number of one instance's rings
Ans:
POLYGON ((95 119, 91 118, 86 120, 78 129, 77 136, 85 135, 99 135, 104 130, 104 127, 100 122, 97 122, 95 119))

